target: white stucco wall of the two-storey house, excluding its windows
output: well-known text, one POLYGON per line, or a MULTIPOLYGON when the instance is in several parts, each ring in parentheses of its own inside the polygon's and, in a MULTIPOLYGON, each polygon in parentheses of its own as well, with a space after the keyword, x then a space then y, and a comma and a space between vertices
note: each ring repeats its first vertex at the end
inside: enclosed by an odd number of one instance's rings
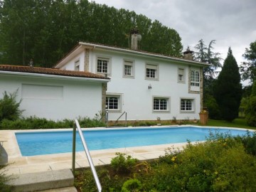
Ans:
MULTIPOLYGON (((82 53, 77 55, 81 57, 82 53)), ((83 57, 84 55, 82 55, 83 57)), ((111 81, 107 84, 107 94, 121 95, 122 110, 111 112, 110 120, 116 120, 122 112, 127 112, 129 120, 156 120, 161 119, 199 119, 200 94, 188 92, 189 66, 186 62, 174 63, 170 60, 152 58, 142 55, 131 55, 128 53, 118 53, 109 50, 90 50, 89 70, 97 73, 97 57, 109 58, 111 63, 111 81), (123 77, 124 59, 134 61, 134 78, 123 77), (159 79, 147 80, 145 78, 146 63, 159 65, 159 79), (178 82, 178 68, 185 70, 185 83, 178 82), (151 85, 151 90, 149 90, 151 85), (168 97, 169 112, 154 112, 153 97, 168 97), (194 100, 193 112, 181 112, 181 98, 194 100)), ((75 60, 70 60, 65 66, 74 66, 75 60)), ((199 70, 198 66, 191 66, 199 70)), ((71 67, 73 68, 73 67, 71 67)), ((191 87, 192 91, 199 91, 199 87, 191 87)), ((124 119, 122 117, 121 119, 124 119)))

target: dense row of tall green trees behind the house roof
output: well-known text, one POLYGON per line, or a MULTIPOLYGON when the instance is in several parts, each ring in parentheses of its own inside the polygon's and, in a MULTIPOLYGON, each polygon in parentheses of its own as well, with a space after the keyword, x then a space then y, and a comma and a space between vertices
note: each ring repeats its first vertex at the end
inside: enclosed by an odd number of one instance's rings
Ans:
POLYGON ((181 37, 134 11, 87 0, 0 0, 0 63, 51 67, 78 41, 129 48, 137 27, 141 49, 181 56, 181 37))

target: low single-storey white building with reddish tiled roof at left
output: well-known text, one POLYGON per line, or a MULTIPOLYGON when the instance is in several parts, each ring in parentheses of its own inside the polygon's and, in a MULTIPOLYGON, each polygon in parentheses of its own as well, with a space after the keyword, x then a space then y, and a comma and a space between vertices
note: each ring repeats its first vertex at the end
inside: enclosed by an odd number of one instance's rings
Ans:
POLYGON ((0 98, 4 91, 18 90, 23 117, 93 118, 102 111, 102 90, 109 81, 89 72, 0 65, 0 98))

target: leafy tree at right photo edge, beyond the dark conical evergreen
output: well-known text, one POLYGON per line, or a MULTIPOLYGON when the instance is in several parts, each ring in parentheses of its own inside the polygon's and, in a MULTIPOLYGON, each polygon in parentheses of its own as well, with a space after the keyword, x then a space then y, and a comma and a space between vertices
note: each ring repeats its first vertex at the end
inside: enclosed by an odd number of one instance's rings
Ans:
POLYGON ((250 48, 245 48, 245 53, 242 55, 247 62, 240 65, 242 80, 256 80, 256 41, 250 43, 250 48))

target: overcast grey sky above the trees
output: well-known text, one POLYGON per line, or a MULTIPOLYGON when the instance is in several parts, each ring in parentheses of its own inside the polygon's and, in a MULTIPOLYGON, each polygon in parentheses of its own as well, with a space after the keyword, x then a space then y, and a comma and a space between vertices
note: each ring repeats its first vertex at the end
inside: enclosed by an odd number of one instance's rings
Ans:
MULTIPOLYGON (((238 62, 250 43, 256 41, 256 0, 95 0, 117 9, 143 14, 152 21, 174 28, 183 49, 193 48, 201 38, 208 45, 216 40, 214 52, 226 58, 228 47, 238 62)), ((142 37, 143 38, 143 37, 142 37)))

